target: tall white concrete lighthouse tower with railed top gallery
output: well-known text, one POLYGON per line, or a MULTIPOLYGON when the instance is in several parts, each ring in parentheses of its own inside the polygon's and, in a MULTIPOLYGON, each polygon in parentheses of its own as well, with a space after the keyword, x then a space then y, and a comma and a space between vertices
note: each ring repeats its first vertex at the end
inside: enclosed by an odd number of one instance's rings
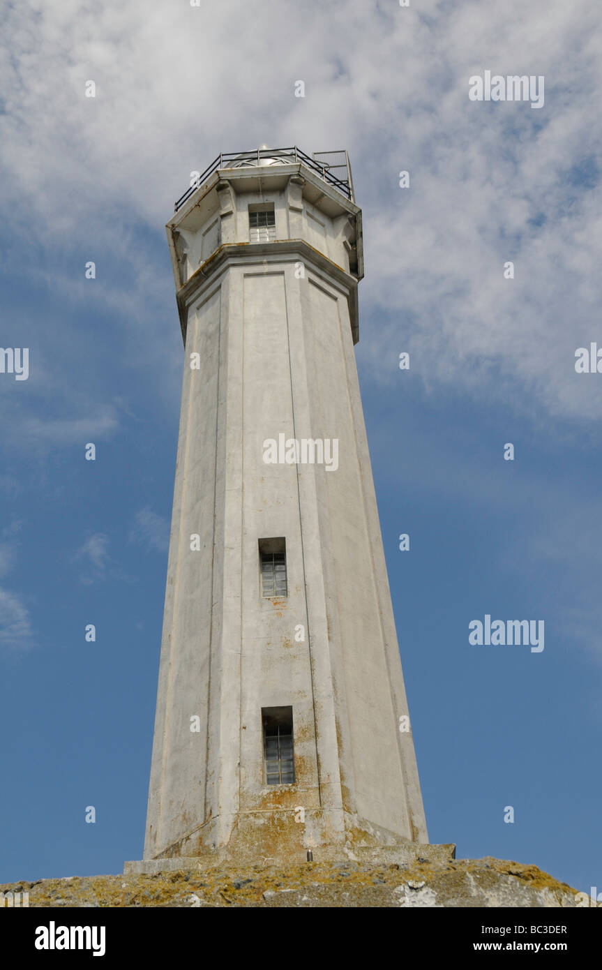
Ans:
POLYGON ((185 354, 144 859, 424 844, 346 152, 221 155, 167 230, 185 354))

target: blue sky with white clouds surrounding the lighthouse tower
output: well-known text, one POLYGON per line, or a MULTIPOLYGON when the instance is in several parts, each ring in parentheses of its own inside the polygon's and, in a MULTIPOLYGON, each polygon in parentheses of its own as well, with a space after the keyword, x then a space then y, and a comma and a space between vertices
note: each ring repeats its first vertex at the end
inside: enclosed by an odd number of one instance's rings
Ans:
POLYGON ((602 346, 595 10, 175 6, 5 14, 0 344, 30 374, 0 374, 0 882, 142 857, 182 367, 164 225, 192 170, 267 143, 347 147, 364 210, 357 359, 430 839, 602 889, 602 375, 574 369, 602 346), (485 69, 544 75, 544 107, 469 101, 485 69), (470 646, 486 613, 543 619, 544 651, 470 646))

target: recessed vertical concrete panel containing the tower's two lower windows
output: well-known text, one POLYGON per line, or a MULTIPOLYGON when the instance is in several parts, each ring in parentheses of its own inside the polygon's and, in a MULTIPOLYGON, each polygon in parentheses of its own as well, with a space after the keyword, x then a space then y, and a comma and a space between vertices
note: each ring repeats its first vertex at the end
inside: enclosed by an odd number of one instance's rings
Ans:
MULTIPOLYGON (((296 792, 311 792, 306 804, 317 799, 317 770, 308 645, 306 638, 295 638, 296 628, 306 624, 298 469, 280 461, 282 441, 295 437, 285 275, 245 275, 243 302, 240 804, 262 812, 273 808, 262 708, 295 708, 295 786, 296 792), (270 455, 269 441, 276 448, 270 455)), ((292 789, 281 794, 280 807, 296 803, 292 789)))

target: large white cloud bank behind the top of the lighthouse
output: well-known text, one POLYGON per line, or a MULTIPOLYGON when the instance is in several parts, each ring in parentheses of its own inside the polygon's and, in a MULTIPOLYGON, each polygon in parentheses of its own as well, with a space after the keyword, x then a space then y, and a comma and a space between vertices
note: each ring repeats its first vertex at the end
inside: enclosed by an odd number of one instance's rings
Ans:
POLYGON ((407 348, 435 389, 596 419, 602 378, 576 375, 574 351, 596 339, 602 296, 597 19, 589 0, 14 5, 0 198, 23 238, 35 215, 41 242, 138 265, 112 299, 143 301, 150 334, 169 262, 136 251, 134 227, 159 238, 191 170, 263 142, 345 146, 364 207, 360 353, 378 379, 407 348), (544 75, 543 109, 470 102, 485 69, 544 75))

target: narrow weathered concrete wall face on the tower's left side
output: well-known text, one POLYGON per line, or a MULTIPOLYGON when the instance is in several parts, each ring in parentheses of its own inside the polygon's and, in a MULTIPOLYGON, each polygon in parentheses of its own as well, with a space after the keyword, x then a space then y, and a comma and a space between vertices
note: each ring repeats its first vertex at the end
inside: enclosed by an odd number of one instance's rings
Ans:
POLYGON ((218 289, 199 307, 188 329, 187 350, 198 350, 203 371, 192 371, 188 353, 184 357, 145 857, 153 857, 206 818, 208 686, 215 634, 210 619, 219 581, 213 553, 223 537, 215 534, 223 521, 223 488, 218 494, 223 471, 216 441, 220 372, 224 378, 220 296, 218 289), (190 549, 191 533, 200 536, 200 552, 190 549), (190 729, 194 716, 200 718, 198 732, 190 729))

